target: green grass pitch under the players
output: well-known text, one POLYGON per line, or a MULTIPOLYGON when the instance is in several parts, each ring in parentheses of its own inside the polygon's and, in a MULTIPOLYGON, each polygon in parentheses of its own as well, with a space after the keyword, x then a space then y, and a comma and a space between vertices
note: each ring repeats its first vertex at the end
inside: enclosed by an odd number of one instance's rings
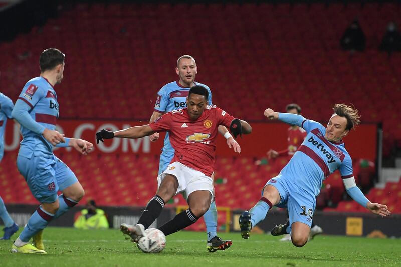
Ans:
MULTIPOLYGON (((15 234, 12 239, 17 238, 15 234)), ((44 232, 47 255, 14 254, 12 241, 0 241, 0 266, 378 266, 401 265, 400 239, 317 236, 302 248, 280 237, 220 233, 233 240, 225 251, 209 253, 206 234, 178 232, 167 237, 160 254, 145 254, 117 230, 49 227, 44 232)))

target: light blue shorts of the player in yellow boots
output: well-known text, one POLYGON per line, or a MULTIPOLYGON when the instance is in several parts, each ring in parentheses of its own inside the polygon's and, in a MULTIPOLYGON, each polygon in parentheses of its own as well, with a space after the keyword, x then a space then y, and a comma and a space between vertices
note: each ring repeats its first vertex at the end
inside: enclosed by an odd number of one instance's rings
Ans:
POLYGON ((35 151, 31 158, 18 155, 17 168, 40 203, 55 202, 59 190, 78 181, 63 161, 40 151, 35 151))

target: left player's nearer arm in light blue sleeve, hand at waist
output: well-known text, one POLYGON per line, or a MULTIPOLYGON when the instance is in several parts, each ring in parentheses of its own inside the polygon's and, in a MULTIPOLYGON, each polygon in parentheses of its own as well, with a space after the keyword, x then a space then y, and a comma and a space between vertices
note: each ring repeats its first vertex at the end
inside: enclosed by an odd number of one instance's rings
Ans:
POLYGON ((56 146, 57 144, 65 143, 64 136, 58 131, 47 129, 45 126, 40 125, 32 119, 28 112, 33 106, 31 106, 31 103, 28 103, 18 99, 14 105, 11 116, 23 127, 38 135, 42 135, 52 145, 56 146))

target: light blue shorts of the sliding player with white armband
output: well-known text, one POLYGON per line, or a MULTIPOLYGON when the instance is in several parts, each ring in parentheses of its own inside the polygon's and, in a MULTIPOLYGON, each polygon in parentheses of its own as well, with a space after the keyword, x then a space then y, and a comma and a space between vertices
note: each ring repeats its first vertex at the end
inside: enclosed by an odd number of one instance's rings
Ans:
POLYGON ((316 208, 315 196, 282 176, 270 179, 266 185, 272 185, 279 191, 281 201, 276 206, 288 209, 290 225, 302 222, 311 227, 316 208))

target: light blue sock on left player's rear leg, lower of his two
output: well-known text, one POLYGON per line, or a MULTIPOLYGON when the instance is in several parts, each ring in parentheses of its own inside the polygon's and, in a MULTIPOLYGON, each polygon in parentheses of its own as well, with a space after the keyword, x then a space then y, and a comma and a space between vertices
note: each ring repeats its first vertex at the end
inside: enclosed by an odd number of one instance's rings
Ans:
POLYGON ((21 232, 20 240, 29 242, 32 236, 46 228, 53 217, 54 215, 45 211, 42 206, 38 207, 31 218, 29 218, 27 226, 25 226, 24 230, 21 232))

